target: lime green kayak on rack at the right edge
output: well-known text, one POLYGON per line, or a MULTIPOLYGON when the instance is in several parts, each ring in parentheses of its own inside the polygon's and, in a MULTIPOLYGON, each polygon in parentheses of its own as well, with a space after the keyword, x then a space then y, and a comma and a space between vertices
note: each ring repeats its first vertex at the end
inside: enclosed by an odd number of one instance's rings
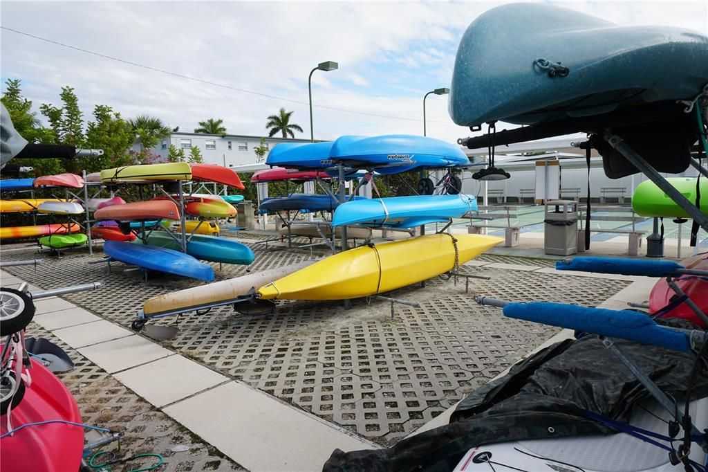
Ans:
MULTIPOLYGON (((669 184, 675 186, 692 203, 696 201, 696 177, 669 177, 669 184)), ((700 180, 701 210, 708 215, 708 179, 700 180)), ((667 218, 690 218, 666 193, 647 180, 636 186, 632 195, 632 210, 640 216, 667 218)))

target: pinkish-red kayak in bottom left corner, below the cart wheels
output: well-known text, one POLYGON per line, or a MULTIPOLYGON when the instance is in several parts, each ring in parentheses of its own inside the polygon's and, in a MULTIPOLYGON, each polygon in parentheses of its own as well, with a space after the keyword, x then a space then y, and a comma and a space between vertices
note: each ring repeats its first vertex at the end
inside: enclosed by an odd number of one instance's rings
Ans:
MULTIPOLYGON (((12 428, 47 420, 81 423, 79 406, 64 383, 34 359, 31 362, 32 385, 25 388, 21 402, 10 412, 12 428)), ((7 431, 7 417, 3 415, 0 434, 7 431)), ((0 450, 3 472, 78 471, 84 429, 59 422, 28 426, 0 439, 0 450)))

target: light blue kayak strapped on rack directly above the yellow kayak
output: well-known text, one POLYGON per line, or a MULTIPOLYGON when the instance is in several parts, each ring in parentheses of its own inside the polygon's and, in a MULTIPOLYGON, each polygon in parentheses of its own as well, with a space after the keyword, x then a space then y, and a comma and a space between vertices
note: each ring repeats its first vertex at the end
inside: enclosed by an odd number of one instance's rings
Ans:
POLYGON ((461 218, 476 210, 476 198, 464 193, 370 198, 338 206, 332 226, 415 227, 461 218))

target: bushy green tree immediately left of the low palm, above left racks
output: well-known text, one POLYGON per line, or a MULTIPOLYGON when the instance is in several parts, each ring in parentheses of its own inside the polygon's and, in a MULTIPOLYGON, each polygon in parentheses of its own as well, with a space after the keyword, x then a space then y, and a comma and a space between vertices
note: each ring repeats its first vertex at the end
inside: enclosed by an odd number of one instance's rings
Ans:
POLYGON ((94 121, 86 128, 86 147, 102 149, 103 156, 82 157, 79 159, 81 169, 86 172, 97 172, 101 169, 134 164, 130 154, 135 135, 130 123, 120 117, 120 113, 105 105, 93 108, 94 121))

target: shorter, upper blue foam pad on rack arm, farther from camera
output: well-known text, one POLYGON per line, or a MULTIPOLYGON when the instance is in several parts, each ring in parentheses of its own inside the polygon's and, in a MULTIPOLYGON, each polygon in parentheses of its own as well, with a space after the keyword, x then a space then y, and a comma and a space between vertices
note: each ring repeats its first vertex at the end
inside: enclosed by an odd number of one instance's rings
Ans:
POLYGON ((559 271, 600 272, 646 277, 666 277, 681 264, 671 261, 644 261, 641 259, 614 259, 612 257, 573 257, 570 262, 556 261, 559 271))

